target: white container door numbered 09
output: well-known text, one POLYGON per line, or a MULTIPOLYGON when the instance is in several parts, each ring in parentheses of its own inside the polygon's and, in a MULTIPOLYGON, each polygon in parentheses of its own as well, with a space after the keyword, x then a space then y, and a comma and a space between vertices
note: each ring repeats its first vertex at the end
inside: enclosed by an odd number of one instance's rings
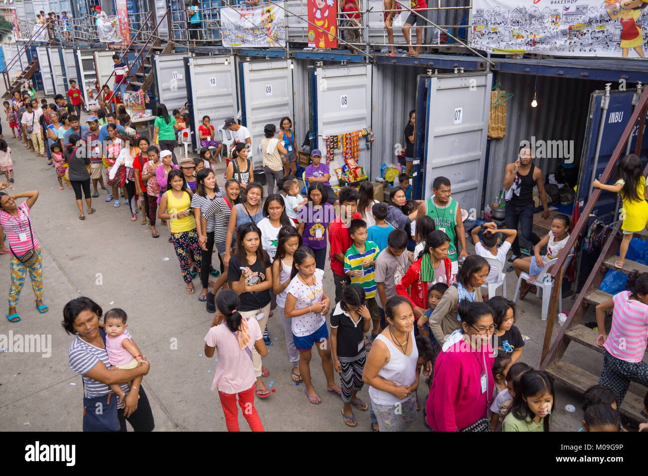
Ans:
POLYGON ((282 117, 294 117, 290 60, 243 62, 241 67, 242 121, 252 136, 255 165, 261 163, 258 150, 266 124, 279 128, 282 117))

